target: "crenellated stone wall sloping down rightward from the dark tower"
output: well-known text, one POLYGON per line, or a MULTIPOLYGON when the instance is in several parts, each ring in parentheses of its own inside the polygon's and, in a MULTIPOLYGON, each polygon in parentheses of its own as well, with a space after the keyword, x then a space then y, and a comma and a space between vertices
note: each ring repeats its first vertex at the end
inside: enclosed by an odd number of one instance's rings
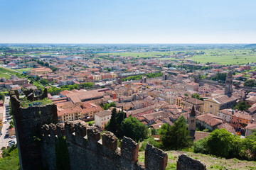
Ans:
POLYGON ((65 126, 43 125, 41 130, 47 147, 57 144, 58 137, 63 137, 62 132, 65 132, 71 169, 165 169, 167 165, 167 154, 151 145, 146 146, 145 164, 140 164, 139 145, 131 138, 124 137, 119 148, 112 132, 100 135, 97 128, 80 120, 65 123, 65 126))

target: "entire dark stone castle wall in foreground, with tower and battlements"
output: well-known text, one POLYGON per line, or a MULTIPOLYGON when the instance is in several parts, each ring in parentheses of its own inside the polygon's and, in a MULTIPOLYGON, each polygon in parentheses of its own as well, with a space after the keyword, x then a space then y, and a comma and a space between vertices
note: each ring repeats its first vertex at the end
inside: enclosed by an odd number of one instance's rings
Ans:
MULTIPOLYGON (((141 164, 139 145, 129 137, 123 138, 119 148, 112 132, 100 135, 97 128, 87 127, 81 120, 53 124, 58 121, 55 104, 22 108, 18 91, 9 93, 21 169, 166 169, 168 158, 161 149, 146 145, 144 164, 141 164)), ((33 101, 45 98, 45 94, 47 91, 38 97, 33 93, 27 95, 33 101)), ((199 163, 181 157, 177 169, 203 167, 199 163)))

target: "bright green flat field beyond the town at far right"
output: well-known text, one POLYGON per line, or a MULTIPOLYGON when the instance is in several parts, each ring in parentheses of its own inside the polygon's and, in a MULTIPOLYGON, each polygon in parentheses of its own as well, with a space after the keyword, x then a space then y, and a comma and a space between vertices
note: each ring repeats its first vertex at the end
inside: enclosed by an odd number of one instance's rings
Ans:
POLYGON ((204 55, 194 55, 191 57, 196 62, 216 62, 218 64, 246 64, 256 62, 256 52, 252 50, 203 50, 204 55))

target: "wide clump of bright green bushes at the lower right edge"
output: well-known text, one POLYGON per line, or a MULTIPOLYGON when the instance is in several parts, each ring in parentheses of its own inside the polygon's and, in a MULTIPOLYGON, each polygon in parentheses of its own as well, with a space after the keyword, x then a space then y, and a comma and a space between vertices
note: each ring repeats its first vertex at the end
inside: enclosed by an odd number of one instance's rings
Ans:
POLYGON ((245 139, 232 135, 225 129, 217 129, 209 137, 194 143, 194 152, 213 154, 217 157, 256 160, 256 132, 245 139))

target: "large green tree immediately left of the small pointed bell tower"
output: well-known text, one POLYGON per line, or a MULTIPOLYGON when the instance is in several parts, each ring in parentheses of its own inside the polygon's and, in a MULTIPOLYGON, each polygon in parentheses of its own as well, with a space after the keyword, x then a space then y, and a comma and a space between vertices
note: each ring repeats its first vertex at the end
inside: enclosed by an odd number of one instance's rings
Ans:
POLYGON ((161 135, 164 149, 178 150, 189 147, 192 144, 186 118, 183 116, 178 118, 173 126, 169 124, 162 125, 159 134, 161 135))

